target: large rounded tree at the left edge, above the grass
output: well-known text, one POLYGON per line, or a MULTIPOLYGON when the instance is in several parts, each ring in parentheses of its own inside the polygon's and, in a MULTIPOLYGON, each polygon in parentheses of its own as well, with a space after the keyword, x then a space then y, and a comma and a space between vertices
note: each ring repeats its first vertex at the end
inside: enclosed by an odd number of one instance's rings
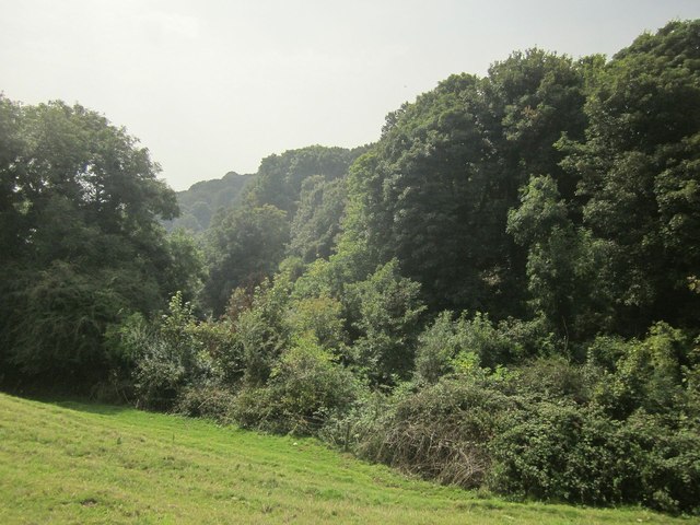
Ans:
POLYGON ((177 213, 175 194, 148 150, 80 105, 2 98, 0 132, 4 364, 73 384, 104 377, 106 326, 160 307, 188 278, 170 272, 158 222, 177 213))

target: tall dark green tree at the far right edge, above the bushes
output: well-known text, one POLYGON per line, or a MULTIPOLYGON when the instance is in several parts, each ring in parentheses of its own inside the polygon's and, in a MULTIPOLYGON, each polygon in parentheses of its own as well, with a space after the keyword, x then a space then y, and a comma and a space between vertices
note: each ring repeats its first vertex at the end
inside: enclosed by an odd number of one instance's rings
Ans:
POLYGON ((617 329, 697 319, 687 278, 700 270, 700 21, 644 34, 603 68, 585 141, 564 166, 581 178, 584 223, 606 261, 617 329))

